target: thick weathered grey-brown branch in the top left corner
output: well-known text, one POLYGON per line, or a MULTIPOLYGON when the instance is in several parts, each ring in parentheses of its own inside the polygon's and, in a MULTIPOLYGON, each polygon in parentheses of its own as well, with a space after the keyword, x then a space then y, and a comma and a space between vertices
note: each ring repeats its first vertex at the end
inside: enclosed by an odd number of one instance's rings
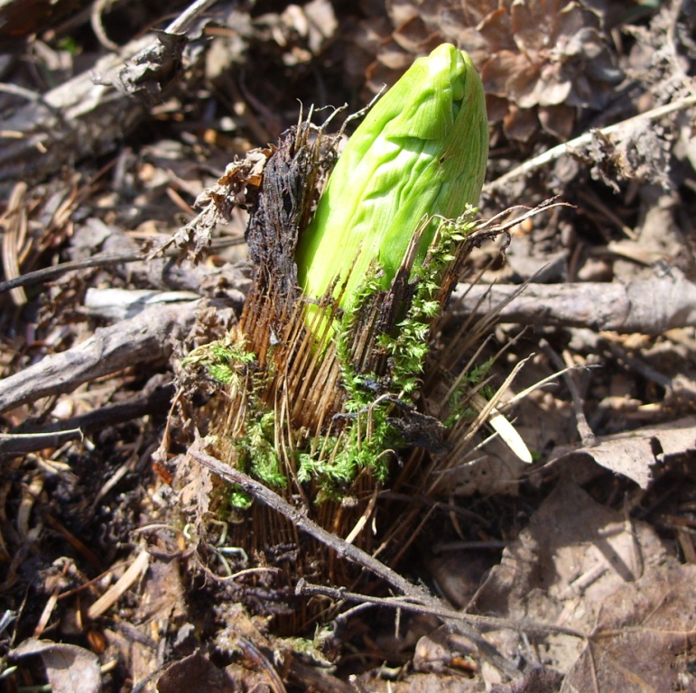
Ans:
POLYGON ((154 40, 137 38, 44 95, 23 89, 29 103, 0 122, 0 181, 41 180, 83 157, 112 151, 153 99, 192 74, 181 69, 187 39, 178 32, 209 5, 211 0, 199 0, 154 40))

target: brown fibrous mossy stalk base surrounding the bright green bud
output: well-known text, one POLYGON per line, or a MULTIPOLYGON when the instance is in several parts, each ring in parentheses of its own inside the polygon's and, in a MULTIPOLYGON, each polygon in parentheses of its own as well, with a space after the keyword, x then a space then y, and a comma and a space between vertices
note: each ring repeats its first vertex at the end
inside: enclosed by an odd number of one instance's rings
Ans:
MULTIPOLYGON (((470 216, 442 220, 416 267, 422 229, 431 221, 421 220, 388 289, 380 288, 380 268, 372 266, 348 313, 339 309, 348 279, 327 287, 319 303, 307 300, 297 287, 293 254, 322 158, 321 138, 310 142, 309 134, 304 124, 285 134, 265 166, 247 234, 255 262, 252 290, 227 337, 190 355, 190 363, 205 366, 218 382, 202 415, 190 413, 194 422, 209 420, 211 455, 372 552, 378 540, 370 520, 385 481, 391 478, 393 488, 406 494, 432 495, 440 481, 433 472, 446 466, 442 453, 448 444, 456 447, 441 421, 424 413, 418 394, 423 367, 465 259, 507 226, 477 225, 470 216)), ((472 329, 464 341, 476 337, 472 329)), ((437 381, 437 367, 432 373, 437 381)), ((448 390, 459 397, 457 387, 448 390)), ((441 396, 432 383, 424 393, 441 396)), ((456 406, 462 408, 461 402, 459 397, 456 406)), ((447 406, 437 409, 446 412, 447 406)), ((459 417, 457 436, 469 433, 466 421, 459 417)), ((479 417, 477 425, 483 422, 479 417)), ((256 593, 268 597, 270 612, 274 599, 286 605, 284 616, 292 614, 282 630, 296 633, 326 613, 323 602, 292 604, 301 577, 356 587, 357 568, 302 537, 278 513, 230 485, 218 485, 213 496, 209 510, 232 521, 230 541, 256 566, 268 568, 255 579, 256 593)), ((403 505, 393 505, 394 514, 379 516, 379 533, 387 537, 379 551, 387 563, 403 555, 422 521, 420 509, 404 512, 403 505)))

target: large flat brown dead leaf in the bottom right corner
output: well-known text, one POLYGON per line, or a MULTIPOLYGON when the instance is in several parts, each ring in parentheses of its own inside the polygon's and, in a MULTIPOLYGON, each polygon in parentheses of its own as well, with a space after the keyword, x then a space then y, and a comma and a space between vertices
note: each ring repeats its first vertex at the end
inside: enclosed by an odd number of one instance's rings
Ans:
MULTIPOLYGON (((567 478, 504 551, 473 606, 586 633, 584 641, 547 634, 534 648, 545 665, 568 672, 563 693, 613 693, 696 685, 688 668, 695 601, 695 566, 669 555, 649 525, 627 521, 567 478)), ((528 651, 514 633, 490 637, 528 651)))

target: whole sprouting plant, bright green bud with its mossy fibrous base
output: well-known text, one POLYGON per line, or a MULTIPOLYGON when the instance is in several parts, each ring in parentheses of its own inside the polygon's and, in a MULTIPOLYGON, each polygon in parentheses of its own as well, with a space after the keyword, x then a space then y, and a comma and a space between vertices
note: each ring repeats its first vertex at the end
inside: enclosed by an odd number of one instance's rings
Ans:
POLYGON ((192 362, 224 391, 209 415, 219 457, 294 497, 339 499, 357 478, 384 480, 394 450, 443 435, 415 395, 475 228, 484 91, 450 44, 416 60, 350 138, 307 225, 309 131, 265 166, 239 324, 192 362))

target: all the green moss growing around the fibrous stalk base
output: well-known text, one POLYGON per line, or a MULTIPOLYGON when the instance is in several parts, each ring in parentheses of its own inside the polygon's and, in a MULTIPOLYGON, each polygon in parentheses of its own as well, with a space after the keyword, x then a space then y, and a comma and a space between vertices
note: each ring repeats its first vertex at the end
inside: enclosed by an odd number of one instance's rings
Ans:
MULTIPOLYGON (((370 331, 369 316, 376 315, 375 306, 384 297, 382 268, 376 263, 371 265, 351 308, 334 322, 333 337, 346 397, 342 413, 333 422, 333 431, 323 437, 305 432, 304 437, 295 441, 295 448, 281 450, 283 442, 277 437, 276 412, 260 401, 266 381, 249 377, 248 366, 255 356, 243 345, 233 343, 232 337, 190 354, 187 363, 204 366, 219 383, 238 387, 242 378, 246 378, 245 430, 241 436, 229 440, 237 451, 236 464, 240 468, 265 485, 281 487, 288 483, 284 457, 295 467, 300 483, 316 485, 317 502, 340 499, 346 487, 365 469, 377 480, 385 481, 396 450, 404 446, 394 419, 401 411, 415 408, 415 393, 430 352, 432 323, 441 310, 441 278, 455 259, 457 246, 474 228, 475 212, 475 208, 469 207, 455 221, 441 220, 425 260, 413 268, 409 305, 404 307, 394 328, 375 339, 374 348, 385 356, 384 374, 360 372, 353 362, 357 335, 361 334, 360 330, 370 331)), ((450 399, 450 425, 466 414, 464 393, 471 384, 480 382, 489 368, 488 363, 478 366, 462 378, 450 399)), ((230 496, 229 504, 235 508, 248 503, 246 494, 238 489, 230 496)))

